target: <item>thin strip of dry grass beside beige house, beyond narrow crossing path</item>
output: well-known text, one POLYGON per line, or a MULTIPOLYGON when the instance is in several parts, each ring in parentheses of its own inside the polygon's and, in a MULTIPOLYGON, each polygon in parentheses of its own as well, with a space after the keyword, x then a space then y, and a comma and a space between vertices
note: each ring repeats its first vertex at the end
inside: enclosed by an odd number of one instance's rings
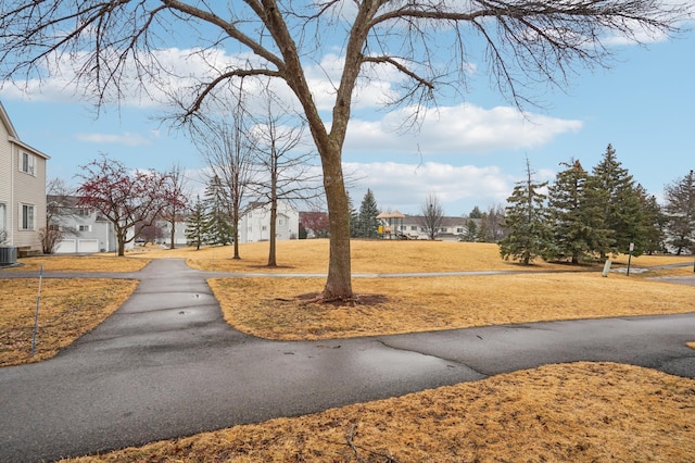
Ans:
POLYGON ((150 261, 104 255, 41 255, 17 262, 22 265, 1 272, 38 272, 41 265, 45 272, 138 272, 150 261))

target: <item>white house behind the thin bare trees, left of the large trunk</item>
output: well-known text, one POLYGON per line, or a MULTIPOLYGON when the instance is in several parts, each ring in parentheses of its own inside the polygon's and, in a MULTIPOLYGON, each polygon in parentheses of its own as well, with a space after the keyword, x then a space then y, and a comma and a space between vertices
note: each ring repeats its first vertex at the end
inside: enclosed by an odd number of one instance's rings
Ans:
MULTIPOLYGON (((278 201, 276 239, 298 239, 300 213, 286 201, 278 201)), ((239 221, 239 242, 270 239, 270 204, 254 204, 239 221)))

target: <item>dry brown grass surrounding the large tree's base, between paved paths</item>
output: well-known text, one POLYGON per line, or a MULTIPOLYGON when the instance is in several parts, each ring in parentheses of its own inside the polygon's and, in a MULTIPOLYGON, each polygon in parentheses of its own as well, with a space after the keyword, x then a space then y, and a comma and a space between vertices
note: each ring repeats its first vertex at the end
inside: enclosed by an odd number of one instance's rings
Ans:
POLYGON ((599 272, 355 278, 356 292, 384 297, 356 306, 298 299, 320 291, 323 278, 215 278, 208 283, 232 326, 270 339, 345 338, 695 310, 695 287, 618 274, 604 278, 599 272))

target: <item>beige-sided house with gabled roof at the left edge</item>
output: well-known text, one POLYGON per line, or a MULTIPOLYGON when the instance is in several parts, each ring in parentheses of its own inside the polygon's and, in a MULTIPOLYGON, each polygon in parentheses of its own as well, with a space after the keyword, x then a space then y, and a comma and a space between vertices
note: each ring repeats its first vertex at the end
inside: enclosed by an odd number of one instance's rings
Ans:
POLYGON ((16 247, 20 255, 41 252, 48 159, 20 140, 0 102, 0 246, 16 247))

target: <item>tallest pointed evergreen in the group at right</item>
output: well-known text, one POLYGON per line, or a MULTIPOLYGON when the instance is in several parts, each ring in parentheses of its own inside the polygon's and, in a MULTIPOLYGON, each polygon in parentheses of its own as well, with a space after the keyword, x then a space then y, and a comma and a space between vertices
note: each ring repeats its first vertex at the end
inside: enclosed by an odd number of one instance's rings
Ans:
POLYGON ((616 150, 608 145, 602 161, 592 171, 592 188, 601 199, 603 228, 610 230, 608 241, 598 243, 596 251, 602 259, 607 254, 627 253, 634 243, 634 255, 640 255, 646 247, 646 229, 642 217, 642 202, 632 175, 616 157, 616 150))

